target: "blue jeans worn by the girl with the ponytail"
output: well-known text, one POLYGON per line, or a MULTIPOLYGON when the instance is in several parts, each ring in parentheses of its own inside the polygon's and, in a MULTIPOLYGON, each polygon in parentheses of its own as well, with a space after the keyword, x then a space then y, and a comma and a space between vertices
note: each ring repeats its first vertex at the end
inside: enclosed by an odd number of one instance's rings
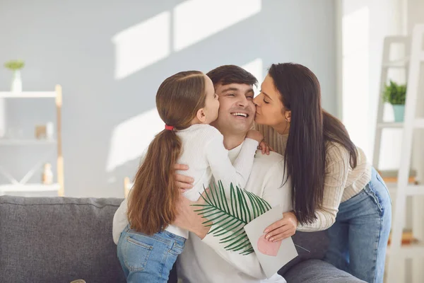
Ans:
POLYGON ((185 241, 168 231, 147 236, 126 226, 117 246, 126 282, 167 282, 185 241))

